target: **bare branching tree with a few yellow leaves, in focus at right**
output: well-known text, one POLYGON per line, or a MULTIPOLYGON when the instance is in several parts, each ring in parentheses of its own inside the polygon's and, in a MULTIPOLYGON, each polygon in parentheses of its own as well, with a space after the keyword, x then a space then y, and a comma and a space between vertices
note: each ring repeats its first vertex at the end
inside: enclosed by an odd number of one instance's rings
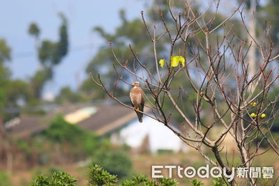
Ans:
MULTIPOLYGON (((268 150, 273 150, 275 155, 279 155, 278 139, 273 138, 271 132, 274 120, 278 116, 276 110, 278 96, 273 100, 269 97, 273 84, 279 76, 272 68, 271 62, 278 59, 279 55, 273 55, 272 42, 269 42, 270 45, 262 45, 255 38, 255 34, 249 33, 244 22, 241 3, 234 9, 232 15, 226 17, 223 22, 216 23, 219 3, 213 1, 204 12, 198 14, 190 1, 185 1, 185 7, 180 13, 177 13, 168 1, 169 14, 176 29, 170 29, 165 21, 165 15, 159 10, 161 24, 154 25, 151 31, 152 27, 146 24, 142 12, 142 20, 153 43, 154 68, 146 67, 146 63, 151 61, 140 61, 140 56, 134 51, 133 46, 129 47, 135 57, 134 62, 119 61, 112 48, 115 57, 112 65, 120 81, 130 84, 122 78, 121 72, 116 70, 116 65, 120 65, 133 79, 138 79, 144 84, 151 111, 142 114, 163 123, 214 166, 225 167, 227 173, 232 173, 232 167, 250 167, 255 157, 268 150), (208 17, 206 13, 212 9, 214 13, 208 17), (249 38, 246 40, 235 36, 233 24, 225 26, 235 14, 240 15, 243 30, 248 33, 249 38), (163 27, 164 30, 158 31, 156 29, 158 26, 163 27), (169 39, 170 45, 169 60, 164 62, 160 61, 160 56, 156 52, 156 43, 165 37, 169 39), (257 59, 260 61, 258 70, 252 75, 248 70, 250 65, 248 54, 251 46, 260 54, 260 59, 257 59), (186 65, 183 63, 172 65, 172 57, 176 56, 175 54, 181 56, 180 62, 186 59, 186 65), (159 61, 164 63, 165 68, 160 68, 159 61), (128 63, 135 63, 134 68, 128 68, 128 63), (181 81, 178 78, 180 75, 185 77, 183 81, 188 82, 190 87, 184 87, 181 83, 179 90, 173 90, 172 84, 176 80, 181 81), (195 117, 188 116, 188 111, 181 106, 181 102, 187 101, 183 100, 183 95, 188 95, 188 91, 185 90, 195 93, 195 101, 191 107, 195 117), (171 109, 165 109, 167 101, 172 103, 171 109), (206 123, 202 119, 205 107, 211 108, 213 116, 212 120, 206 123), (183 118, 181 125, 184 130, 182 131, 176 130, 169 124, 174 112, 183 118), (221 128, 222 131, 218 136, 213 137, 210 133, 216 127, 221 128), (240 164, 235 164, 234 160, 232 162, 227 160, 226 147, 224 148, 223 144, 227 135, 232 137, 237 146, 236 155, 240 157, 240 164), (268 144, 268 147, 260 148, 263 143, 268 144), (213 152, 214 158, 209 156, 208 150, 213 152), (226 156, 221 156, 221 153, 225 153, 226 156)), ((110 46, 112 47, 112 42, 110 46)), ((124 107, 133 109, 121 102, 114 90, 107 90, 100 75, 91 75, 91 77, 110 98, 124 107)), ((238 182, 239 180, 234 180, 229 184, 236 185, 238 182)), ((247 178, 245 182, 256 185, 257 180, 247 178)))

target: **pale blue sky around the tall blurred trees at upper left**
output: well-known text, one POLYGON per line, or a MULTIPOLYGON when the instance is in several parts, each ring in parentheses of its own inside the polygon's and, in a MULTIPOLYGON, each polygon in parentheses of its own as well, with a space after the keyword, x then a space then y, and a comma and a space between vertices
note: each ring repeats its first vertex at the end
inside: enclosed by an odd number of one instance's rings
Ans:
POLYGON ((45 87, 45 93, 57 93, 61 86, 77 84, 85 77, 84 68, 105 41, 92 32, 93 26, 101 26, 113 32, 121 22, 119 10, 126 10, 128 20, 140 17, 146 0, 10 0, 0 6, 0 38, 5 38, 12 48, 9 67, 13 78, 28 79, 38 69, 34 40, 27 33, 31 22, 41 29, 41 39, 56 40, 64 13, 69 22, 70 52, 55 68, 54 79, 45 87))

